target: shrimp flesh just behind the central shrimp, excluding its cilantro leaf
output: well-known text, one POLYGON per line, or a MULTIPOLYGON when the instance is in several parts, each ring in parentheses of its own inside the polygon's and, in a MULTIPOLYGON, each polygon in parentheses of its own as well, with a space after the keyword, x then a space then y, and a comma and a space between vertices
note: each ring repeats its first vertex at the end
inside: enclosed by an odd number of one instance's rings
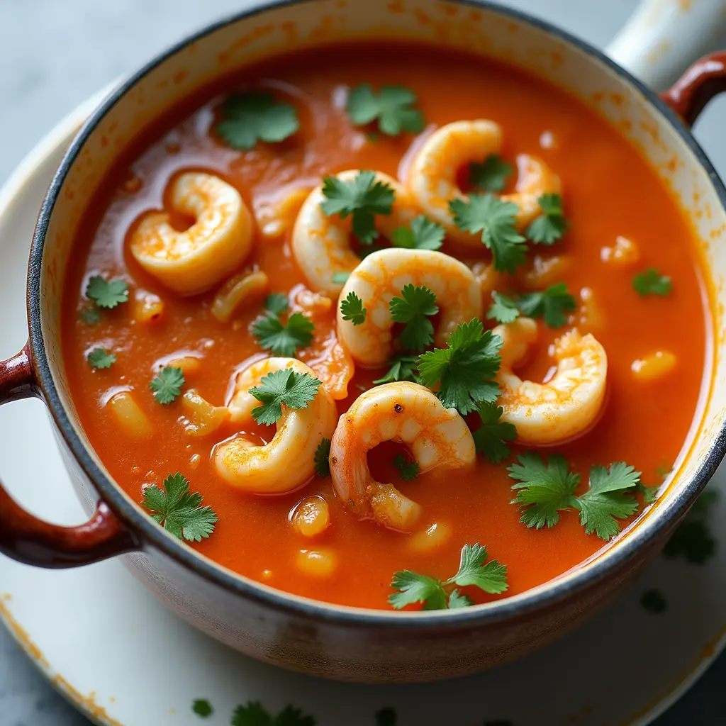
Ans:
MULTIPOLYGON (((341 181, 350 181, 360 172, 356 169, 336 174, 341 181)), ((407 189, 391 176, 375 172, 375 180, 388 184, 396 197, 391 214, 376 217, 376 225, 384 237, 407 225, 420 213, 407 189)), ((322 185, 313 189, 303 203, 293 229, 293 257, 314 290, 338 295, 342 282, 333 282, 333 275, 348 274, 360 262, 351 248, 351 227, 348 220, 327 216, 320 207, 325 201, 322 185)))

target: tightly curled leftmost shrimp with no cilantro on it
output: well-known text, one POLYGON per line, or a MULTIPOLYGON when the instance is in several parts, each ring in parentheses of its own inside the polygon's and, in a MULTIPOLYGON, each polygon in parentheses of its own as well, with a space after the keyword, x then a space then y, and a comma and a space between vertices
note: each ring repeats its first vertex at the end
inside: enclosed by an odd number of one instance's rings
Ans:
POLYGON ((219 176, 179 174, 170 192, 171 208, 195 223, 179 232, 168 213, 147 213, 131 234, 131 254, 166 287, 194 295, 224 280, 248 256, 252 216, 240 192, 219 176))

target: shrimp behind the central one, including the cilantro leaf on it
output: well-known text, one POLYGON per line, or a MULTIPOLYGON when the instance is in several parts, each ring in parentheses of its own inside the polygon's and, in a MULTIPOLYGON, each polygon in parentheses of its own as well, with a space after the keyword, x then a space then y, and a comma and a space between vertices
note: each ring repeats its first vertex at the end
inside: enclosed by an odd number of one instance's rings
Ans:
POLYGON ((419 213, 409 192, 388 174, 351 169, 327 176, 295 220, 293 257, 314 290, 338 295, 344 281, 335 276, 352 272, 360 262, 345 220, 351 217, 352 234, 370 246, 380 232, 391 238, 419 213))

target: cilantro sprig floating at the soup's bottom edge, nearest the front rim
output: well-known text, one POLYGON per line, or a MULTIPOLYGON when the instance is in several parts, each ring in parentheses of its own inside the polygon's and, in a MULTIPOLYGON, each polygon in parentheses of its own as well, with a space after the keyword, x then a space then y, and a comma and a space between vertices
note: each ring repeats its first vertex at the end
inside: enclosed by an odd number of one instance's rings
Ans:
POLYGON ((447 603, 447 593, 444 588, 450 585, 473 586, 490 595, 500 595, 507 590, 507 566, 497 560, 486 562, 488 557, 486 547, 482 547, 478 542, 465 544, 461 550, 459 571, 445 582, 411 570, 396 572, 391 587, 398 592, 389 595, 388 602, 396 610, 414 603, 423 603, 424 610, 462 608, 474 604, 468 595, 462 595, 459 590, 449 594, 447 603))

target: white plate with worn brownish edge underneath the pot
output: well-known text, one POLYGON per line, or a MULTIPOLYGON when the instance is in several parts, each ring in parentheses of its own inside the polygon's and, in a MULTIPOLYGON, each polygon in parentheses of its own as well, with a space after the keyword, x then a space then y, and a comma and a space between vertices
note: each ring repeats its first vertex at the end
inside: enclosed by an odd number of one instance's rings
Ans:
MULTIPOLYGON (((36 213, 78 123, 98 98, 63 121, 0 192, 0 356, 17 352, 25 330, 25 265, 36 213)), ((83 513, 38 401, 0 409, 0 474, 35 513, 59 523, 83 513)), ((712 488, 726 494, 726 468, 712 488)), ((726 505, 709 516, 726 540, 726 505)), ((463 680, 415 686, 360 686, 315 680, 259 664, 219 645, 159 605, 111 561, 42 571, 0 558, 0 615, 48 679, 103 725, 229 724, 235 706, 288 703, 318 726, 376 726, 393 707, 397 726, 642 725, 664 711, 726 641, 726 551, 705 566, 659 560, 617 603, 555 645, 510 666, 463 680), (640 605, 656 589, 665 613, 640 605), (215 711, 201 721, 192 701, 215 711), (544 720, 546 719, 546 720, 544 720)))

